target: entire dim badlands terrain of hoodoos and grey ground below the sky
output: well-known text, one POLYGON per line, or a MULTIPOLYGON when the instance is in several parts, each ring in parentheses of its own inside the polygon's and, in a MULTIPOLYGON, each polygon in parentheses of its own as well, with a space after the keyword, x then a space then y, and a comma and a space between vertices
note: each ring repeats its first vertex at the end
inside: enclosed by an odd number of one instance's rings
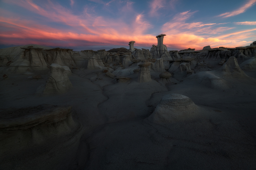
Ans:
POLYGON ((168 51, 164 36, 0 49, 0 169, 255 169, 256 42, 168 51))

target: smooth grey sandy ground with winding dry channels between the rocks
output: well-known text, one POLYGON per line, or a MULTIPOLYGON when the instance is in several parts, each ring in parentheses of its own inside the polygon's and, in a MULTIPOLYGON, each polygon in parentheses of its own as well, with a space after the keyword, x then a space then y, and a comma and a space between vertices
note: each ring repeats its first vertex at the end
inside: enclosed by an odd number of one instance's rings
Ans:
POLYGON ((72 72, 73 88, 52 96, 35 94, 47 72, 38 72, 41 79, 19 73, 1 79, 1 109, 71 105, 78 126, 65 130, 59 122, 36 137, 33 130, 1 133, 0 169, 256 168, 255 72, 246 72, 251 81, 228 77, 227 89, 196 77, 165 84, 153 76, 152 82, 137 83, 133 74, 131 81, 117 83, 101 70, 72 72), (161 98, 173 93, 208 111, 190 121, 148 120, 161 98))

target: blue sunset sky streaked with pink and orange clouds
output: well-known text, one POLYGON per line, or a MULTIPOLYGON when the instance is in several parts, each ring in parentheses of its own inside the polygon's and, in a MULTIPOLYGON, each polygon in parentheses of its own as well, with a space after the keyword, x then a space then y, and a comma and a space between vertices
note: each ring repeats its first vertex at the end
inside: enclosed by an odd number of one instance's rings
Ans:
POLYGON ((256 41, 256 0, 0 0, 0 48, 112 49, 135 41, 168 50, 256 41))

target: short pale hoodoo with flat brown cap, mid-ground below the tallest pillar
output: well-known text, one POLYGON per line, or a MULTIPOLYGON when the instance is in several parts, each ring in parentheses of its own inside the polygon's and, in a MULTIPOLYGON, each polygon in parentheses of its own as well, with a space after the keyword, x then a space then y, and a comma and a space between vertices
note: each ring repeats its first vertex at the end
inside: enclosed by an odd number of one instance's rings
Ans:
POLYGON ((150 66, 151 64, 152 64, 151 62, 143 62, 143 63, 138 64, 138 66, 140 67, 140 71, 138 74, 137 82, 144 83, 144 82, 152 81, 150 71, 148 69, 148 66, 150 66))

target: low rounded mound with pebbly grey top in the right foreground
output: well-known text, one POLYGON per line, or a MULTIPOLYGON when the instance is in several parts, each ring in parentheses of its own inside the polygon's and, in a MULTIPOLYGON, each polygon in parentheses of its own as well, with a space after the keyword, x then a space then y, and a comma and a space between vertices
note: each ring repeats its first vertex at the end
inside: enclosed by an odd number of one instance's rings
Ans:
POLYGON ((176 123, 191 120, 199 116, 202 110, 187 96, 168 94, 162 97, 147 119, 156 124, 176 123))

